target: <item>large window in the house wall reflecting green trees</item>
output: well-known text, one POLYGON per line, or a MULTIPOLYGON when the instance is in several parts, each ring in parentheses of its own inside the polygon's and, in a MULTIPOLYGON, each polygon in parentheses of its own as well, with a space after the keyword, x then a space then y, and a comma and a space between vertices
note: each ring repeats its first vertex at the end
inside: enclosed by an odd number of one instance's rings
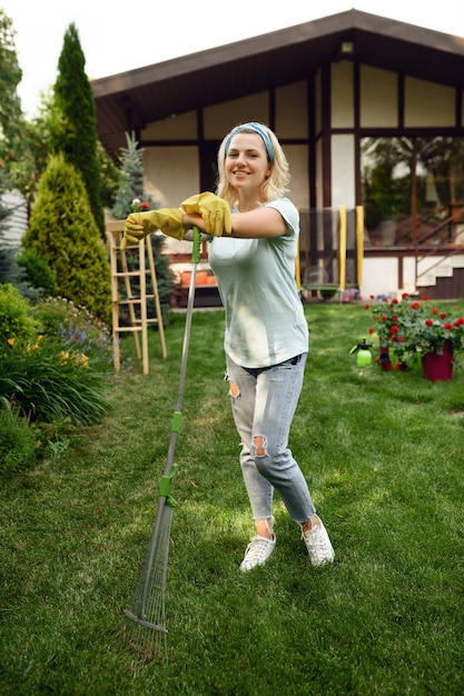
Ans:
POLYGON ((463 138, 364 138, 361 162, 371 245, 461 242, 463 138))

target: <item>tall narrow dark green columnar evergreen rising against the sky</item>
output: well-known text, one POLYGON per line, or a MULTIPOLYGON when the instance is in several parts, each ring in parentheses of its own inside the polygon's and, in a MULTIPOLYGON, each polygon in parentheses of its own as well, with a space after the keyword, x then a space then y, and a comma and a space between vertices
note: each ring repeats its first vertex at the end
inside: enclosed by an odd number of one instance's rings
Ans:
POLYGON ((71 23, 65 34, 53 88, 52 148, 55 153, 63 152, 66 160, 81 173, 90 209, 103 236, 97 115, 85 64, 79 34, 71 23))

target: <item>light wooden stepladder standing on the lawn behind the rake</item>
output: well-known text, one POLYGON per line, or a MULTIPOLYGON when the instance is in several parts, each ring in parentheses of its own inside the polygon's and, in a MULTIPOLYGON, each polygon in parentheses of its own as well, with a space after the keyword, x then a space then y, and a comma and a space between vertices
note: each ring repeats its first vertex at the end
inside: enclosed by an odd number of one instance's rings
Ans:
POLYGON ((147 375, 149 365, 148 326, 150 324, 157 325, 161 342, 161 355, 162 358, 167 357, 154 250, 150 235, 137 245, 131 245, 126 250, 121 249, 122 230, 124 220, 112 220, 106 225, 111 271, 113 365, 116 371, 119 371, 120 337, 122 334, 130 332, 134 336, 136 356, 138 359, 141 358, 142 371, 144 375, 147 375), (134 256, 134 258, 130 258, 130 262, 128 261, 129 255, 130 257, 134 256), (151 280, 151 289, 148 294, 147 278, 151 280), (149 311, 148 308, 151 300, 155 306, 155 312, 149 311), (125 306, 129 315, 128 325, 121 324, 120 310, 125 306))

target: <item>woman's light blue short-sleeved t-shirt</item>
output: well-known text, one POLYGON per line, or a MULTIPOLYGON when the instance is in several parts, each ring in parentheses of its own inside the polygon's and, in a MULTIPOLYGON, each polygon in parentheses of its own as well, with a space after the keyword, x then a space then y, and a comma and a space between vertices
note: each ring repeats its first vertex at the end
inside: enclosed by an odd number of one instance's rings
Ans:
POLYGON ((278 365, 308 350, 308 326, 295 281, 299 215, 288 198, 266 203, 287 233, 266 239, 214 237, 209 264, 226 312, 224 348, 241 367, 278 365))

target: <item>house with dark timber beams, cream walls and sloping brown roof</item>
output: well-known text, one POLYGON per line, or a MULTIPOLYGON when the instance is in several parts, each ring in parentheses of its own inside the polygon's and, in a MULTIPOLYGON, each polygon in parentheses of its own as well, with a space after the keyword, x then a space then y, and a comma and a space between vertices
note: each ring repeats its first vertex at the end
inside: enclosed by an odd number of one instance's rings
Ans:
MULTIPOLYGON (((464 38, 348 10, 92 89, 101 141, 116 158, 136 132, 161 206, 214 190, 223 137, 263 121, 309 216, 305 272, 330 274, 336 252, 327 261, 310 213, 363 207, 362 295, 463 295, 464 38)), ((174 243, 187 261, 189 245, 174 243)))

